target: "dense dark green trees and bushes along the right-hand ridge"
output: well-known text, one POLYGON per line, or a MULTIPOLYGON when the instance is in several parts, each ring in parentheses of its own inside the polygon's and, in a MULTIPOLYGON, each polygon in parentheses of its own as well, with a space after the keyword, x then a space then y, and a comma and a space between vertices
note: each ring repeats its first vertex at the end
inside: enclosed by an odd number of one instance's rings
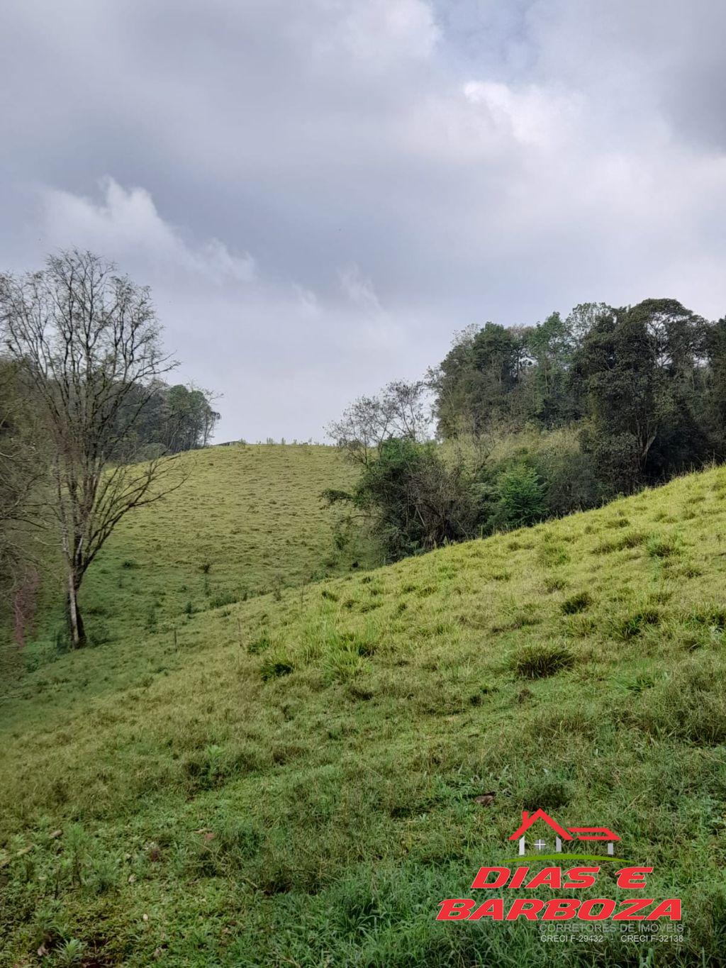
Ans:
POLYGON ((593 507, 726 458, 726 318, 647 299, 472 326, 329 434, 361 475, 326 497, 390 559, 593 507))

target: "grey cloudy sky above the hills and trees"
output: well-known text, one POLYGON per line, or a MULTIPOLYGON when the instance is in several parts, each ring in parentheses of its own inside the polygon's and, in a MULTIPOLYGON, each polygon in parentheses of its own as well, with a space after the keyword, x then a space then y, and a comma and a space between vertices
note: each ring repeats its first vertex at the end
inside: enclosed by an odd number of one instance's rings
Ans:
POLYGON ((218 440, 472 322, 726 313, 722 0, 4 0, 0 267, 152 287, 218 440))

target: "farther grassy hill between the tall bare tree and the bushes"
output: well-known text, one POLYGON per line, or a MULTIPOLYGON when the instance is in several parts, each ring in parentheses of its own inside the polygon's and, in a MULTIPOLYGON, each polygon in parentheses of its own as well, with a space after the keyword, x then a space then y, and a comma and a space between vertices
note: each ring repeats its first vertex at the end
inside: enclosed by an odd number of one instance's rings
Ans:
MULTIPOLYGON (((169 631, 209 607, 373 560, 359 540, 334 543, 320 493, 348 487, 355 471, 333 447, 211 447, 182 454, 178 474, 185 483, 129 514, 91 566, 81 606, 92 641, 169 631)), ((60 591, 45 593, 44 605, 29 661, 55 650, 62 626, 60 591)))

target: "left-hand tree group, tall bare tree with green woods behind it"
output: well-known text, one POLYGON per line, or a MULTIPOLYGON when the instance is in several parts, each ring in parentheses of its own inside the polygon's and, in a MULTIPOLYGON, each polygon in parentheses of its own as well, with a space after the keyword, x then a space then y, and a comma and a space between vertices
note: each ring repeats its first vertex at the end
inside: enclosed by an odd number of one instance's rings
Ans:
POLYGON ((59 560, 72 645, 78 591, 119 521, 183 481, 175 457, 204 446, 209 395, 169 386, 147 287, 76 250, 39 272, 0 274, 0 584, 15 633, 32 612, 34 549, 59 560))

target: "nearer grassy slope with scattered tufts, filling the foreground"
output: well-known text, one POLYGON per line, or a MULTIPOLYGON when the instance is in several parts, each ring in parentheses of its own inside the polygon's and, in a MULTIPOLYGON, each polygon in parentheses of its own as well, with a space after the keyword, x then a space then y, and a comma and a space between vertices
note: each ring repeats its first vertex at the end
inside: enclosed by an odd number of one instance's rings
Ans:
POLYGON ((724 560, 716 469, 29 674, 2 707, 2 963, 723 964, 724 560), (619 832, 682 945, 437 923, 537 807, 619 832))

